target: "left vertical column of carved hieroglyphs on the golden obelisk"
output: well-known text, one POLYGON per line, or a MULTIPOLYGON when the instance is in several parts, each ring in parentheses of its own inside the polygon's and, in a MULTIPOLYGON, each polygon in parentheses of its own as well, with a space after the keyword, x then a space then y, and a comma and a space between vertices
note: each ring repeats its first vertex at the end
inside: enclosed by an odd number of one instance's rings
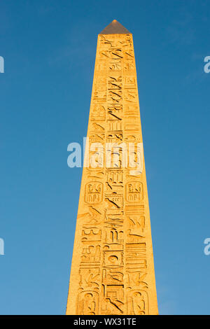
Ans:
POLYGON ((107 58, 97 45, 97 55, 87 130, 80 201, 73 246, 66 314, 99 314, 102 283, 102 223, 104 220, 103 149, 106 124, 107 58), (88 163, 90 165, 88 165, 88 163))

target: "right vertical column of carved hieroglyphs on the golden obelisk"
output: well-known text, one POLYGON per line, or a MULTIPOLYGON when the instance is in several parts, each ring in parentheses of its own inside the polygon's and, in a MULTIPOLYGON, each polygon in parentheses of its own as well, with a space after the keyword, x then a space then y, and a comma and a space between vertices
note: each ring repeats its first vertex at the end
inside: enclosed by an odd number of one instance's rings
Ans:
POLYGON ((130 147, 134 164, 124 172, 126 314, 158 314, 137 73, 132 35, 127 37, 130 42, 123 51, 124 140, 128 147, 134 145, 130 147))

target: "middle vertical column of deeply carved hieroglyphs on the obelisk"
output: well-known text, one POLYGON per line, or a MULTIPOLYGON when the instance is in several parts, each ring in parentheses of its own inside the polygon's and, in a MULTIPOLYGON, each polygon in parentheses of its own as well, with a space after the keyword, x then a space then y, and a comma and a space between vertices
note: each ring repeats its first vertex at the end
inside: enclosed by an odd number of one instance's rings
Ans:
POLYGON ((123 142, 123 50, 118 34, 99 36, 108 58, 106 111, 105 216, 101 314, 125 314, 123 142))

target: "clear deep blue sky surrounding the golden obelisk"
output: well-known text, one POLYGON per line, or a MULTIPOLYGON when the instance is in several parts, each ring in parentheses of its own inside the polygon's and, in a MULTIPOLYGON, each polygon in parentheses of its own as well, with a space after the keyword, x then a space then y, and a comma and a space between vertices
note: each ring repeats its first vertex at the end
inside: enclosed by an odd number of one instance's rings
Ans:
POLYGON ((134 36, 160 314, 210 314, 208 0, 1 0, 1 314, 64 314, 97 34, 134 36))

